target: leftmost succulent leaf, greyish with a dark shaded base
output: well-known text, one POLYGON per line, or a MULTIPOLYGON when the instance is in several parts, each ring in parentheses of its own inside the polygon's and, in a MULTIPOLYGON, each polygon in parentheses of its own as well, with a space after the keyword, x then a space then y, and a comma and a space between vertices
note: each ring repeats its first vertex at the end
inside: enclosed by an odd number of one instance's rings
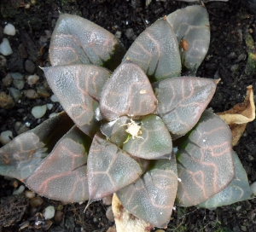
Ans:
POLYGON ((59 113, 0 149, 0 175, 21 181, 31 175, 63 134, 73 126, 67 113, 59 113))

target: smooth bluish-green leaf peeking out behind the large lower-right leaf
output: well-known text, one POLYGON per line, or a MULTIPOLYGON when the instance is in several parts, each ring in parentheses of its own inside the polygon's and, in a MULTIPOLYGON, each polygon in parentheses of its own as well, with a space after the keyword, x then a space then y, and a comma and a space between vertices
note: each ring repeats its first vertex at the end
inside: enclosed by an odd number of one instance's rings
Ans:
POLYGON ((252 188, 248 183, 247 173, 241 165, 236 152, 233 151, 234 165, 236 171, 235 179, 221 192, 213 195, 207 201, 201 202, 199 207, 214 208, 218 206, 231 205, 237 201, 249 200, 252 198, 252 188))

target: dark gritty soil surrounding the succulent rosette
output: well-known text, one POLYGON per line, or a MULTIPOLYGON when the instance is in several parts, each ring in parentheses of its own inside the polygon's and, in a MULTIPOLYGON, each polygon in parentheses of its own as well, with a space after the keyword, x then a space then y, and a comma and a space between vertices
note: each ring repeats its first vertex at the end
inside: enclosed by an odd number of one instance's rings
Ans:
MULTIPOLYGON (((39 68, 49 65, 50 34, 60 12, 77 14, 95 22, 118 36, 128 49, 134 39, 155 20, 191 3, 153 0, 145 6, 143 0, 38 0, 35 3, 28 0, 2 0, 0 4, 0 43, 3 38, 9 38, 13 49, 12 55, 0 56, 0 92, 9 94, 10 87, 18 88, 15 82, 3 84, 2 79, 9 76, 9 73, 20 73, 25 76, 25 80, 34 73, 39 76, 37 84, 29 85, 25 81, 20 89, 22 95, 16 96, 15 107, 0 108, 0 133, 9 130, 17 136, 48 119, 50 113, 62 110, 58 102, 50 100, 52 92, 39 68), (15 26, 15 36, 3 34, 7 22, 15 26), (35 90, 38 95, 32 99, 26 96, 25 90, 35 90), (46 103, 53 104, 53 107, 47 110, 43 118, 34 119, 32 107, 46 103)), ((214 112, 223 112, 243 101, 247 85, 252 84, 253 90, 256 90, 256 73, 245 72, 246 36, 250 32, 253 39, 256 38, 254 15, 247 10, 242 0, 206 3, 206 7, 210 17, 211 43, 197 76, 221 78, 209 107, 214 112)), ((247 125, 244 135, 234 148, 247 171, 250 183, 256 181, 255 137, 256 123, 252 122, 247 125)), ((85 204, 63 204, 46 198, 42 198, 43 204, 32 208, 32 202, 24 196, 12 195, 14 188, 20 184, 0 177, 0 231, 18 231, 20 226, 24 228, 22 231, 44 231, 48 228, 48 231, 107 231, 113 225, 106 217, 108 206, 103 205, 102 201, 91 204, 85 213, 85 204), (44 221, 40 214, 46 206, 55 206, 57 210, 56 216, 49 221, 44 221)), ((256 231, 255 215, 254 199, 212 211, 177 206, 164 230, 256 231)))

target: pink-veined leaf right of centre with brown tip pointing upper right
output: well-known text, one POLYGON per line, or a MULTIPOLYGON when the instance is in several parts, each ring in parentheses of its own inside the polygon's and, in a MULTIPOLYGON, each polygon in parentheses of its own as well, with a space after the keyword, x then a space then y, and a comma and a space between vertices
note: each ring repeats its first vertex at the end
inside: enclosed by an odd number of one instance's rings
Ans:
POLYGON ((189 132, 216 90, 216 83, 208 78, 166 78, 154 84, 158 100, 157 113, 174 138, 189 132))

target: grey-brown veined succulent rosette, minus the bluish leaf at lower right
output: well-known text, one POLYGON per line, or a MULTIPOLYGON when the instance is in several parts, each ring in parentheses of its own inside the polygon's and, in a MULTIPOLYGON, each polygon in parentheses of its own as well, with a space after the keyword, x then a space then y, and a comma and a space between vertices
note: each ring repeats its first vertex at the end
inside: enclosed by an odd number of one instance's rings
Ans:
POLYGON ((205 111, 216 82, 181 76, 195 73, 209 39, 202 6, 157 20, 127 52, 102 27, 61 14, 43 69, 66 113, 5 145, 0 174, 53 200, 116 193, 158 227, 175 200, 195 206, 218 194, 235 169, 228 126, 205 111))

